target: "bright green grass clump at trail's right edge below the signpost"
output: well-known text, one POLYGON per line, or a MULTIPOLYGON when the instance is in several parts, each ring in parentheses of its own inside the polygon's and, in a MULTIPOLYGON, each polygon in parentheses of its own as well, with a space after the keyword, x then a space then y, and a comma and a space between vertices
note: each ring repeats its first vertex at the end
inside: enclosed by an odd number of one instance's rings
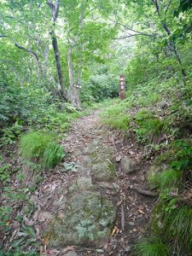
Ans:
POLYGON ((126 131, 130 125, 130 119, 125 113, 125 105, 117 105, 107 108, 101 115, 102 123, 115 130, 126 131))

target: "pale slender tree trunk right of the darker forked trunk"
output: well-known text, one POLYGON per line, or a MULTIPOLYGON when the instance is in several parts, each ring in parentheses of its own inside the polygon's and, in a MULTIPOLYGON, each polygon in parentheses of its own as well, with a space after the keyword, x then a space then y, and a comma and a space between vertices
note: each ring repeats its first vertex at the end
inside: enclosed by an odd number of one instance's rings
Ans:
MULTIPOLYGON (((79 107, 79 88, 74 86, 74 73, 73 73, 73 61, 72 61, 72 46, 68 49, 68 73, 69 73, 69 99, 74 106, 79 107)), ((78 84, 76 84, 78 85, 78 84)))

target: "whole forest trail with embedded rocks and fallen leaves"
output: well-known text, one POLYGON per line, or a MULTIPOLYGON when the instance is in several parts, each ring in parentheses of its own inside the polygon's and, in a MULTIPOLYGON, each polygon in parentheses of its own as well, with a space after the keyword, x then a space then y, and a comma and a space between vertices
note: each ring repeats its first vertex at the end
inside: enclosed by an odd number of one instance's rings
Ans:
POLYGON ((131 188, 144 187, 147 166, 132 143, 102 127, 99 113, 73 122, 65 162, 33 196, 42 255, 131 255, 146 231, 154 198, 131 188))

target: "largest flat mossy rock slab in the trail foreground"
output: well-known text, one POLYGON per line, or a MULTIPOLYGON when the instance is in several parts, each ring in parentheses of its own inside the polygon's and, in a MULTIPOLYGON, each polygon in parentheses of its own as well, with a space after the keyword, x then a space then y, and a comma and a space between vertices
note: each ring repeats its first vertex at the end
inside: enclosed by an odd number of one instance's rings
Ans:
POLYGON ((64 217, 55 216, 45 236, 52 247, 100 247, 108 241, 116 210, 112 201, 94 191, 80 191, 69 198, 64 217))

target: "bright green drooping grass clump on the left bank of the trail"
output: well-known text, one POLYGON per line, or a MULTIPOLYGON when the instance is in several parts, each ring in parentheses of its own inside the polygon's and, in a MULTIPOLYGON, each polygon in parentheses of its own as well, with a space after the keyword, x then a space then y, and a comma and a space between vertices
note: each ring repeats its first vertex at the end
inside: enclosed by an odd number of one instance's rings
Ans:
POLYGON ((26 160, 53 168, 64 157, 64 149, 55 143, 54 134, 45 131, 30 131, 20 138, 20 154, 26 160))

